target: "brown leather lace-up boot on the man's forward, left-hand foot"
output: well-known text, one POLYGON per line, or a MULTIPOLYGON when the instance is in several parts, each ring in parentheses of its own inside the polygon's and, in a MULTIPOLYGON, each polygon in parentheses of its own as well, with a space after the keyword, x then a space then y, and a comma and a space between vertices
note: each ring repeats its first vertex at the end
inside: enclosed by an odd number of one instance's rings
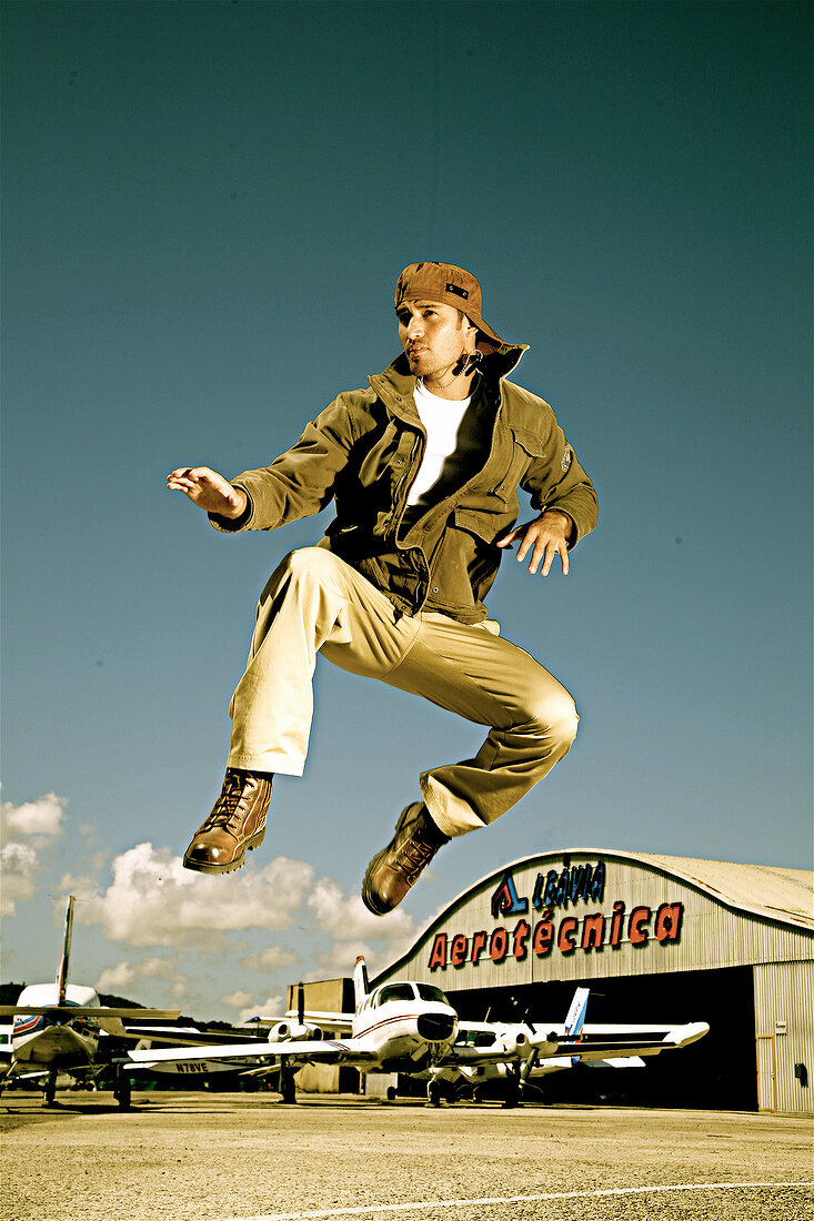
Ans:
POLYGON ((183 856, 186 869, 231 873, 246 861, 246 850, 259 847, 265 835, 265 812, 271 800, 271 777, 237 768, 226 779, 211 813, 196 832, 183 856))

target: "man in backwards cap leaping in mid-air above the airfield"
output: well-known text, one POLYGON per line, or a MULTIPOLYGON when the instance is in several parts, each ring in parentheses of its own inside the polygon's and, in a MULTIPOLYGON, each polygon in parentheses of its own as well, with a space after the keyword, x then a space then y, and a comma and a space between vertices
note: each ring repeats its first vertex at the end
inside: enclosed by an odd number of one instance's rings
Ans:
POLYGON ((275 772, 302 775, 317 653, 489 726, 474 758, 420 777, 420 801, 364 875, 378 916, 396 907, 438 849, 493 823, 571 747, 568 692, 500 636, 484 600, 518 545, 548 575, 596 524, 590 480, 541 398, 507 381, 526 344, 484 322, 480 284, 446 263, 414 263, 395 295, 401 354, 346 391, 270 466, 229 482, 182 466, 182 491, 221 531, 336 516, 315 547, 286 556, 266 585, 230 713, 226 778, 183 863, 230 873, 263 842, 275 772), (517 490, 533 521, 516 525, 517 490))

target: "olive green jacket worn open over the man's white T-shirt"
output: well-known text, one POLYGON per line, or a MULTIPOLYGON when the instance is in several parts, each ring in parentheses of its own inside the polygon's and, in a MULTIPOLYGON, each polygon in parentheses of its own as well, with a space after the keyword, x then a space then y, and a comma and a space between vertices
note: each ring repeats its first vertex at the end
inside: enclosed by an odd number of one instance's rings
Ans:
POLYGON ((310 422, 299 441, 262 470, 238 475, 248 504, 219 530, 275 530, 310 516, 331 499, 336 518, 329 547, 407 614, 440 610, 463 623, 485 618, 484 598, 517 521, 517 488, 538 513, 556 508, 574 524, 573 546, 596 524, 596 496, 573 449, 541 398, 506 381, 526 350, 504 344, 483 364, 490 396, 491 448, 467 482, 423 512, 407 529, 407 493, 422 463, 427 433, 413 400, 416 379, 403 355, 367 389, 347 391, 310 422), (494 415, 493 415, 494 410, 494 415))

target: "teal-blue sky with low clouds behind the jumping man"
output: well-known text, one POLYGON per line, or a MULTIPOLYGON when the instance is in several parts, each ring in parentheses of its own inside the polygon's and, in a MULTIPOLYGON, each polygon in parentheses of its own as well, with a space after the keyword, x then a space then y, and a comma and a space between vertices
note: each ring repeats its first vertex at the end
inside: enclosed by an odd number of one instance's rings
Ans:
POLYGON ((794 2, 5 6, 5 979, 51 976, 68 890, 76 982, 235 1018, 535 851, 812 866, 809 45, 794 2), (530 343, 600 525, 490 597, 571 755, 375 921, 369 857, 480 731, 321 663, 263 849, 181 871, 257 596, 328 514, 230 538, 164 480, 364 385, 418 259, 530 343))

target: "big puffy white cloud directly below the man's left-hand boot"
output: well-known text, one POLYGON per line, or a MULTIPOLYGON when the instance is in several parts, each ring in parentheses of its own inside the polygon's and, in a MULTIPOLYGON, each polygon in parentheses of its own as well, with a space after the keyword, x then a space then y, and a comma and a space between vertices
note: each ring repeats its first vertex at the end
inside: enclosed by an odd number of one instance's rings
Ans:
POLYGON ((210 877, 185 869, 170 849, 137 844, 112 862, 114 880, 89 899, 78 917, 101 924, 127 945, 171 945, 218 952, 233 950, 224 934, 284 929, 313 883, 303 861, 276 857, 264 869, 210 877))

